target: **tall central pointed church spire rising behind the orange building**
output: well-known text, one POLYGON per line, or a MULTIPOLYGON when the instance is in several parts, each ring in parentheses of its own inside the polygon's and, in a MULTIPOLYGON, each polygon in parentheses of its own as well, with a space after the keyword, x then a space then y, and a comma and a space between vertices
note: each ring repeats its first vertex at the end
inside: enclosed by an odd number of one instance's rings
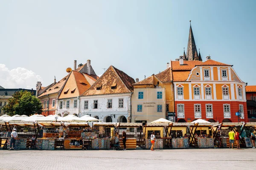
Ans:
POLYGON ((192 27, 191 27, 191 20, 189 22, 190 22, 189 41, 188 41, 186 57, 187 57, 187 60, 193 61, 195 56, 195 51, 197 50, 196 50, 195 39, 194 39, 192 27))

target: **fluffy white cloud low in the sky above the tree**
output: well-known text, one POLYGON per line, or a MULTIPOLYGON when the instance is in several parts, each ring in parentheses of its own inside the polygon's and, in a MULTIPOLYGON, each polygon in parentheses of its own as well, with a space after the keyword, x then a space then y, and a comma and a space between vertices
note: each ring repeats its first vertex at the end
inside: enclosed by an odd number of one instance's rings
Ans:
POLYGON ((35 89, 36 82, 43 82, 41 76, 26 68, 9 70, 6 65, 0 64, 0 86, 3 88, 35 89))

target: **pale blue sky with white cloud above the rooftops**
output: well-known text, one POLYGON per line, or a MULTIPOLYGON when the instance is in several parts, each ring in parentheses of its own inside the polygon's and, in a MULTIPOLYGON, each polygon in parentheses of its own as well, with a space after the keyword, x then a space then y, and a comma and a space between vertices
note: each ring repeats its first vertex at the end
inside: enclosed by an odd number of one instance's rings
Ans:
POLYGON ((47 86, 87 59, 97 75, 113 65, 142 80, 183 55, 189 20, 203 61, 233 65, 256 85, 255 7, 255 0, 1 1, 0 86, 47 86))

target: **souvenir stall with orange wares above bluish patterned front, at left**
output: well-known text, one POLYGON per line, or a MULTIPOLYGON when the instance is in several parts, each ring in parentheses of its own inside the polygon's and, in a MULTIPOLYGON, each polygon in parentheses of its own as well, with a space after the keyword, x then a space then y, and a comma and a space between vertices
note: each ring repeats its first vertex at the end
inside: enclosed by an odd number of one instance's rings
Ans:
POLYGON ((60 122, 37 123, 39 137, 36 139, 36 149, 55 150, 57 147, 62 149, 64 140, 62 124, 60 122))

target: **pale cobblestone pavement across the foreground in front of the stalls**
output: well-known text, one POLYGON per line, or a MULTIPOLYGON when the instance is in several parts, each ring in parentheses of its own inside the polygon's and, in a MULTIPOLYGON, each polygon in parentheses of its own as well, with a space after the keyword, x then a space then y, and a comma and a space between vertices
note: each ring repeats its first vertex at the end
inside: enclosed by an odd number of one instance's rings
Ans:
POLYGON ((256 169, 256 149, 0 150, 0 170, 256 169))

